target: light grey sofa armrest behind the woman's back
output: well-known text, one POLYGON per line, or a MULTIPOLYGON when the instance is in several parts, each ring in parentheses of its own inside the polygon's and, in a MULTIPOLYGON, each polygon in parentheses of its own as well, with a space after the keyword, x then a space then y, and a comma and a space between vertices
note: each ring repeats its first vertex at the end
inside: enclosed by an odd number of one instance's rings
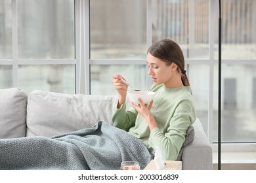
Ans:
POLYGON ((212 147, 198 118, 196 118, 193 126, 195 131, 194 141, 186 146, 182 152, 182 169, 213 169, 212 147))

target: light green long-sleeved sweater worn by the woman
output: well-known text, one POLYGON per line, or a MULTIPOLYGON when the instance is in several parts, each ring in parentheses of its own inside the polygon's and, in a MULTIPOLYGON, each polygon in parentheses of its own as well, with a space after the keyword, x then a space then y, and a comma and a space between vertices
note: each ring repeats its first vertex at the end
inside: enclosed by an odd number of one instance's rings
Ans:
POLYGON ((146 120, 134 108, 126 110, 126 103, 114 110, 113 125, 129 131, 150 151, 158 146, 163 159, 175 160, 185 141, 188 126, 196 120, 190 86, 166 88, 161 84, 148 90, 156 92, 150 111, 158 127, 150 132, 146 120))

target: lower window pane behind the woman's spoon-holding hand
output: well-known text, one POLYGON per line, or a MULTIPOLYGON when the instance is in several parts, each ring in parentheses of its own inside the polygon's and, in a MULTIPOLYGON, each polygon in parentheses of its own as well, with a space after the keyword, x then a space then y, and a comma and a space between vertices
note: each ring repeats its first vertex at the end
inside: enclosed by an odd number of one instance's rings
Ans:
POLYGON ((116 73, 122 75, 134 88, 146 90, 146 68, 146 65, 91 65, 91 94, 117 94, 112 85, 112 75, 116 73))

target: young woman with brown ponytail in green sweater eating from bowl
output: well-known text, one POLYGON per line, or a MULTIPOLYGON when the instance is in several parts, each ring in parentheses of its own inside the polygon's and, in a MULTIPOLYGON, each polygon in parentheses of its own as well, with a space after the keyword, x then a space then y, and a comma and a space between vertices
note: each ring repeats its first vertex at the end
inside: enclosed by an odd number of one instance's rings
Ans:
POLYGON ((147 53, 148 75, 156 92, 153 101, 144 105, 131 103, 126 110, 127 85, 114 75, 113 85, 119 97, 114 112, 114 126, 129 130, 150 151, 160 148, 163 159, 175 160, 185 141, 186 130, 196 120, 190 84, 184 70, 184 56, 179 45, 170 39, 153 44, 147 53))

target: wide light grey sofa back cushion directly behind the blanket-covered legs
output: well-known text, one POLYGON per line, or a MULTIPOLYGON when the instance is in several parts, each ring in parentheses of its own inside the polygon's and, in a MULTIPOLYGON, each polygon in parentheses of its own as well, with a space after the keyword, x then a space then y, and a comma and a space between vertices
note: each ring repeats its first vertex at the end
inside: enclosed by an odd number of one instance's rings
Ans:
POLYGON ((28 96, 27 136, 52 137, 91 127, 102 120, 112 124, 116 95, 70 95, 35 90, 28 96))

